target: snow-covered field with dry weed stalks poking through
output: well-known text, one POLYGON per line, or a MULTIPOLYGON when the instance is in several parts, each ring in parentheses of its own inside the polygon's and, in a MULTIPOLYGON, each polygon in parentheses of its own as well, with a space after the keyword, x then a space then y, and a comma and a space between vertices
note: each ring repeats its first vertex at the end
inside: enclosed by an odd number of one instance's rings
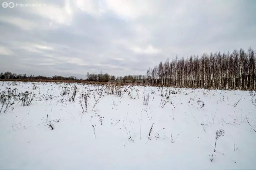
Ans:
POLYGON ((0 82, 2 95, 8 88, 16 94, 0 113, 0 169, 256 168, 248 91, 0 82), (29 106, 20 91, 36 94, 29 106))

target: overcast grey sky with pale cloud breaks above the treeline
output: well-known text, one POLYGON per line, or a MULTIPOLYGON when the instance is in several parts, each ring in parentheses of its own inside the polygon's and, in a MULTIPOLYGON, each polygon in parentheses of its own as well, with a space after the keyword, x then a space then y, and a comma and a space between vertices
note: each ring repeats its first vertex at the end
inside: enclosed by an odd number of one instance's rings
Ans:
POLYGON ((255 0, 0 2, 15 4, 0 6, 0 72, 145 74, 167 57, 256 48, 255 0))

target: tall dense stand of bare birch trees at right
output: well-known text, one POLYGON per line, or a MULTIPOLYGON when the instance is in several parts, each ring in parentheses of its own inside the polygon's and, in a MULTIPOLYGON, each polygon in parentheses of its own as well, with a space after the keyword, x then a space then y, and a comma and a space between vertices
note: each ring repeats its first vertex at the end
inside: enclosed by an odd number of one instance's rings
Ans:
POLYGON ((255 89, 256 51, 204 53, 201 57, 177 57, 149 68, 150 84, 189 88, 255 89))

